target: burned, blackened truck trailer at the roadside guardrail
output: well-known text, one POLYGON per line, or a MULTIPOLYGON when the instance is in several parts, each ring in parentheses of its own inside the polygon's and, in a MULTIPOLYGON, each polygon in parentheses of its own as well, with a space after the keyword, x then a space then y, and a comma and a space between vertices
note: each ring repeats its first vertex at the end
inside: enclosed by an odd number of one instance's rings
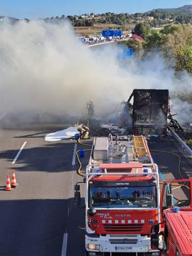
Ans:
POLYGON ((169 111, 168 90, 134 89, 127 106, 132 116, 133 134, 164 134, 169 111))

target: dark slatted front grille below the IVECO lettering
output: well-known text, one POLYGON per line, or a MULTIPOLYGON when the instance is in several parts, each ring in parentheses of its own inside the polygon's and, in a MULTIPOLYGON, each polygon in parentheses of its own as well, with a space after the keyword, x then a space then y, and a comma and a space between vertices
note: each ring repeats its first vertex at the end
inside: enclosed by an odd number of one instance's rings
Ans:
POLYGON ((104 224, 104 230, 106 232, 140 232, 143 228, 143 224, 104 224))

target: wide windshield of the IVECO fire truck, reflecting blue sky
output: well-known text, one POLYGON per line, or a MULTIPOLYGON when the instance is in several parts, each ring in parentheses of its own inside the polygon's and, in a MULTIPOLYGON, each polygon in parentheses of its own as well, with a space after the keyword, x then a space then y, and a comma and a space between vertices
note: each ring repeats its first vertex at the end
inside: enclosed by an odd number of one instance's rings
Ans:
MULTIPOLYGON (((92 183, 92 182, 91 182, 92 183)), ((89 190, 90 207, 154 208, 157 192, 153 182, 93 182, 89 190)))

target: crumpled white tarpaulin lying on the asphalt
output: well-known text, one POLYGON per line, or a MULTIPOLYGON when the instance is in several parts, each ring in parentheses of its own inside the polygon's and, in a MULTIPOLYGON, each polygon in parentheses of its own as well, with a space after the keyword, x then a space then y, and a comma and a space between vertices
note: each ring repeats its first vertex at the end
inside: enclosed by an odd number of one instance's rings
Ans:
POLYGON ((77 127, 68 127, 67 129, 52 132, 45 135, 45 141, 60 141, 60 140, 66 140, 74 137, 76 133, 79 133, 77 130, 81 125, 77 127))

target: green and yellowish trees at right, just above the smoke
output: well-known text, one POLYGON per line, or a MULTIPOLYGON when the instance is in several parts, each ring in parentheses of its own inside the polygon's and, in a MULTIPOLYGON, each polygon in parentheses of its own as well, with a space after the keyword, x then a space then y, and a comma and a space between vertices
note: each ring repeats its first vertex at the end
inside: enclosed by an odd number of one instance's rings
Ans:
POLYGON ((126 44, 135 51, 140 51, 138 56, 154 53, 154 50, 163 52, 164 59, 176 71, 187 70, 192 74, 192 28, 191 25, 168 25, 159 31, 148 30, 144 24, 134 28, 134 32, 143 33, 145 40, 138 47, 138 40, 129 40, 126 44))

